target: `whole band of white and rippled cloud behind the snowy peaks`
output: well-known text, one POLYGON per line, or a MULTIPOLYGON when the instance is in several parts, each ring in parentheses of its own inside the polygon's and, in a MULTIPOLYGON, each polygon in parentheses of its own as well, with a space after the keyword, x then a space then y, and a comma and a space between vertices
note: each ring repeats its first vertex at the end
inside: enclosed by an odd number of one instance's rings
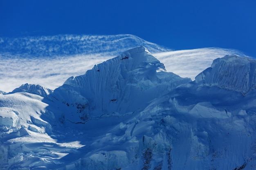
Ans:
POLYGON ((11 92, 25 83, 55 89, 67 77, 83 75, 94 64, 137 46, 145 46, 168 72, 192 80, 218 57, 245 56, 238 50, 215 47, 172 51, 128 34, 0 38, 0 90, 11 92))

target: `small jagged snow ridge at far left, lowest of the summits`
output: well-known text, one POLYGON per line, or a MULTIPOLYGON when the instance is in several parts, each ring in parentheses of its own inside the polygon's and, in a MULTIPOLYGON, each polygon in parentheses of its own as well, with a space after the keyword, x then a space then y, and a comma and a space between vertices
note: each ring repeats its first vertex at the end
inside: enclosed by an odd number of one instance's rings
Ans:
POLYGON ((41 85, 26 83, 26 84, 22 84, 19 88, 15 88, 11 93, 17 93, 17 92, 27 92, 27 93, 40 95, 42 97, 46 97, 47 95, 53 93, 53 90, 49 88, 45 88, 41 85))

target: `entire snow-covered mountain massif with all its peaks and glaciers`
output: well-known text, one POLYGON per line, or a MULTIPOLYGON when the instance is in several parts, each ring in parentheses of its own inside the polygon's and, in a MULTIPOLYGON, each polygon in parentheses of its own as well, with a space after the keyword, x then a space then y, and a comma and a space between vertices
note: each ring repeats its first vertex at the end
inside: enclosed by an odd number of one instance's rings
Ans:
POLYGON ((256 169, 255 68, 227 55, 192 81, 141 46, 0 93, 0 169, 256 169))

